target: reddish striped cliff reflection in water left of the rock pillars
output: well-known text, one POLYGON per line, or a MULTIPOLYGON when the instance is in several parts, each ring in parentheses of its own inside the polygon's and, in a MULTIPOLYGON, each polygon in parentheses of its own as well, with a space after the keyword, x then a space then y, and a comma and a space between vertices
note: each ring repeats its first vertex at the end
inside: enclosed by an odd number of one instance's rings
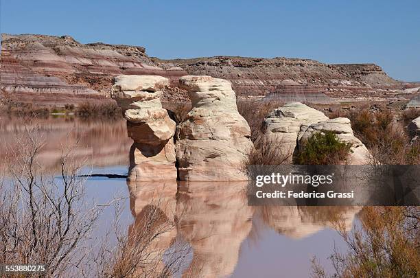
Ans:
MULTIPOLYGON (((3 163, 7 148, 13 149, 16 137, 25 135, 24 119, 0 117, 0 163, 3 163)), ((42 136, 45 146, 39 161, 49 172, 58 170, 62 148, 74 146, 75 159, 86 160, 86 165, 127 165, 131 140, 127 137, 126 121, 123 119, 57 118, 32 119, 27 127, 39 126, 36 135, 42 136), (80 140, 80 141, 78 141, 80 140)), ((1 167, 2 165, 0 165, 1 167)))

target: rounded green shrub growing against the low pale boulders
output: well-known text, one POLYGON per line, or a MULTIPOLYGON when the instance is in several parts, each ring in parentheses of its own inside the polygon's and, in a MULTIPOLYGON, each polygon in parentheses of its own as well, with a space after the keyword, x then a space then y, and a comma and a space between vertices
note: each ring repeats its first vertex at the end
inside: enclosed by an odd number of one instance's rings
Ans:
POLYGON ((336 165, 345 161, 351 153, 351 143, 338 139, 331 131, 316 132, 296 155, 301 165, 336 165))

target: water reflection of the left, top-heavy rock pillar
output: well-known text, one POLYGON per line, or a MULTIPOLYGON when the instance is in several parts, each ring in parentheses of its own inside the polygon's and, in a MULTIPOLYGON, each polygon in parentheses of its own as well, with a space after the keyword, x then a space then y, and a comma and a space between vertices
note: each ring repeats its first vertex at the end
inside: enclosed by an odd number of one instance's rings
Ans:
POLYGON ((127 185, 130 210, 135 218, 128 228, 131 242, 127 256, 141 261, 136 275, 158 277, 167 270, 163 262, 165 251, 176 240, 176 181, 128 181, 127 185))

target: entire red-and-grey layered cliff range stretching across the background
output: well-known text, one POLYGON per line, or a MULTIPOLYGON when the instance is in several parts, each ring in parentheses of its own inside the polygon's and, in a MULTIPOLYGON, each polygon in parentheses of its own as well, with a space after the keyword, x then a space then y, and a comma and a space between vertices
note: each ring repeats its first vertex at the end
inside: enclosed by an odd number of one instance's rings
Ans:
MULTIPOLYGON (((1 36, 0 89, 21 102, 65 104, 109 95, 115 76, 158 75, 172 86, 162 100, 184 101, 187 93, 176 87, 185 75, 207 75, 232 83, 239 97, 290 93, 304 99, 326 102, 319 93, 355 92, 368 94, 375 89, 401 88, 373 64, 327 65, 309 59, 209 58, 160 60, 150 58, 145 49, 104 43, 82 44, 71 36, 1 36), (282 83, 292 80, 302 87, 289 92, 282 83), (285 90, 286 89, 286 90, 285 90)), ((334 94, 336 96, 336 94, 334 94)), ((299 99, 288 99, 302 101, 299 99)))

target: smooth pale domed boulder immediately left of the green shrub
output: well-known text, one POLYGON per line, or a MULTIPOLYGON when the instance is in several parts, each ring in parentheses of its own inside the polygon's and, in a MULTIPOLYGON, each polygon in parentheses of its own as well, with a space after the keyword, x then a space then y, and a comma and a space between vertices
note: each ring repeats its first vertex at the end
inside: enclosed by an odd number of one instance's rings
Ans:
POLYGON ((328 119, 322 112, 299 102, 290 102, 272 111, 264 119, 264 132, 270 139, 281 142, 281 156, 292 161, 292 154, 301 132, 307 126, 328 119))

